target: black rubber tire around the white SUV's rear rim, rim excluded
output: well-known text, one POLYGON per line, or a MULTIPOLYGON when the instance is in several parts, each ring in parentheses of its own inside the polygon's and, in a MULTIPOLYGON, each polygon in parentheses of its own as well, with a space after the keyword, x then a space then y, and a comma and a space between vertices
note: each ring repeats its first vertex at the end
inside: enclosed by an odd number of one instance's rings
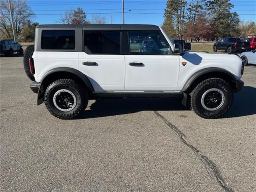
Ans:
POLYGON ((46 92, 44 94, 44 104, 53 116, 60 119, 71 119, 78 116, 85 110, 86 106, 88 105, 88 91, 85 88, 82 88, 72 79, 59 79, 52 82, 46 88, 46 92), (76 106, 73 110, 63 112, 54 106, 53 96, 58 90, 61 89, 67 89, 76 96, 76 106))

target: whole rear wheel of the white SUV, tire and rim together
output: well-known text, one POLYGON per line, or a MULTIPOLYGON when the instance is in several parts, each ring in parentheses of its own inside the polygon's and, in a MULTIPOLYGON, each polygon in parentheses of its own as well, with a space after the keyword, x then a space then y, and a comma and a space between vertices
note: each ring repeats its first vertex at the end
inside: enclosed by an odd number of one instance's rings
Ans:
POLYGON ((59 79, 47 87, 44 103, 53 116, 71 119, 85 110, 88 92, 72 79, 59 79))

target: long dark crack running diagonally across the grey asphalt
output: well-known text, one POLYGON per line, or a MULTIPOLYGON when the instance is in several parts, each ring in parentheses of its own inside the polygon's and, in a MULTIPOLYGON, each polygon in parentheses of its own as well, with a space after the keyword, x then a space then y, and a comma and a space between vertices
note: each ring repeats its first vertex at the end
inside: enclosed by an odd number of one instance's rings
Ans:
POLYGON ((164 116, 159 114, 157 111, 154 111, 154 113, 156 114, 156 116, 161 118, 165 122, 166 125, 168 125, 172 130, 174 130, 178 134, 178 136, 180 137, 180 140, 186 146, 191 148, 196 154, 198 154, 198 156, 200 156, 200 159, 202 160, 202 162, 204 162, 206 164, 206 167, 212 171, 212 173, 216 177, 218 183, 220 184, 220 186, 222 186, 222 188, 225 191, 234 192, 234 190, 225 183, 224 178, 222 177, 218 166, 212 160, 210 160, 207 156, 200 153, 200 151, 196 147, 194 147, 192 144, 190 144, 186 140, 186 135, 181 130, 179 130, 174 124, 170 123, 164 116))

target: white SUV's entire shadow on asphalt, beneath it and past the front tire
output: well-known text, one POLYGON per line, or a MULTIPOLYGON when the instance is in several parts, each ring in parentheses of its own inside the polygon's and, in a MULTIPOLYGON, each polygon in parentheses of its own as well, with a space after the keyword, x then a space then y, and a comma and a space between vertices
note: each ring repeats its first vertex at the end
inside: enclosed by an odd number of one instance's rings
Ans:
MULTIPOLYGON (((245 86, 235 94, 234 103, 221 118, 233 118, 256 114, 256 88, 245 86)), ((107 117, 140 111, 190 110, 181 104, 182 98, 109 98, 96 100, 89 110, 76 119, 107 117)), ((196 114, 195 114, 196 115, 196 114)))

